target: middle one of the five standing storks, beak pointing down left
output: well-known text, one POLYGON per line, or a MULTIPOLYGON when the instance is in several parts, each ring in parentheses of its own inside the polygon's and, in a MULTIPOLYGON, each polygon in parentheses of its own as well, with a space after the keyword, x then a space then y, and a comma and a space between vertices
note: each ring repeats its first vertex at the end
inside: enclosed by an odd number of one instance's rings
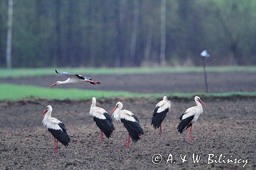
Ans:
POLYGON ((112 110, 110 114, 114 112, 114 118, 117 121, 120 120, 123 126, 128 131, 128 140, 126 147, 129 147, 130 136, 132 137, 132 140, 135 143, 140 139, 140 135, 144 135, 144 131, 139 124, 139 119, 131 111, 121 110, 122 108, 123 104, 121 102, 117 102, 115 108, 112 110))

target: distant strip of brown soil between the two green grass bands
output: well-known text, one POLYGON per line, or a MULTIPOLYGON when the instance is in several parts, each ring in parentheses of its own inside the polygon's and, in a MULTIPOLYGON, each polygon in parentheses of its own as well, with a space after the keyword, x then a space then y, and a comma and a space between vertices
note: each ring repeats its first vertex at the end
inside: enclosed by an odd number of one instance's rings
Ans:
MULTIPOLYGON (((135 74, 135 75, 88 75, 101 85, 80 84, 74 88, 94 90, 118 90, 140 93, 156 92, 198 92, 204 91, 202 72, 173 74, 135 74)), ((26 84, 49 87, 62 77, 45 76, 18 79, 0 79, 0 83, 26 84)), ((53 88, 70 88, 70 85, 59 85, 53 88)), ((209 92, 256 91, 256 72, 209 72, 209 92)))

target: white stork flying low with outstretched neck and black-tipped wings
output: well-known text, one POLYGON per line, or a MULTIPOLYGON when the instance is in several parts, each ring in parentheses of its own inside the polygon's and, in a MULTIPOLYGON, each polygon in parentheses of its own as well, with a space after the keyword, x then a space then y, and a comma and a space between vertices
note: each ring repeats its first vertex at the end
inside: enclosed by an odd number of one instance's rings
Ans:
POLYGON ((56 86, 59 84, 81 84, 84 82, 90 82, 91 84, 94 84, 94 85, 100 84, 100 82, 95 82, 91 78, 86 77, 86 76, 81 76, 81 75, 73 74, 70 72, 58 72, 56 69, 55 69, 55 72, 57 74, 60 74, 63 77, 67 77, 68 79, 63 82, 57 81, 56 83, 52 84, 50 87, 56 86))

